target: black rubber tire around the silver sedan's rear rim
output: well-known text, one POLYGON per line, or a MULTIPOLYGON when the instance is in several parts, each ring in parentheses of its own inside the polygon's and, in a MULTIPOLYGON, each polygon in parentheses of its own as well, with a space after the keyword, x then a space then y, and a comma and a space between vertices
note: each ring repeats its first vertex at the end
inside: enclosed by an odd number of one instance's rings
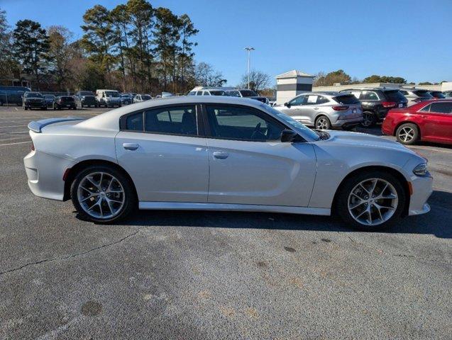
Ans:
POLYGON ((135 210, 138 206, 136 193, 133 188, 133 183, 131 183, 131 180, 128 179, 127 176, 125 176, 121 171, 118 171, 118 169, 115 169, 112 166, 108 165, 92 165, 87 166, 87 168, 82 169, 82 171, 75 176, 74 181, 72 181, 71 185, 71 199, 72 203, 75 206, 75 209, 77 209, 77 212, 79 214, 79 217, 81 217, 83 220, 89 220, 92 222, 97 222, 100 224, 106 224, 111 222, 116 222, 118 220, 121 220, 125 218, 128 214, 130 214, 133 210, 135 210), (88 174, 91 174, 93 172, 104 172, 106 174, 110 174, 111 176, 116 177, 116 179, 121 183, 121 186, 124 190, 124 204, 119 210, 118 214, 111 218, 101 219, 97 217, 93 217, 87 212, 85 212, 82 208, 82 206, 79 203, 78 197, 77 197, 77 188, 79 186, 80 181, 84 179, 84 176, 87 176, 88 174))

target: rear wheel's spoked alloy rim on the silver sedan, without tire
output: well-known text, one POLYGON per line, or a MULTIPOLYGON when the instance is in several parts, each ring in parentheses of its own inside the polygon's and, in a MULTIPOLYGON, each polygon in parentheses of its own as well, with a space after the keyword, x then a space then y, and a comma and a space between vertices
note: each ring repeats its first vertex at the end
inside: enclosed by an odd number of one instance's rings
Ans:
POLYGON ((84 212, 97 219, 111 219, 125 203, 124 188, 116 177, 106 172, 87 174, 77 187, 77 200, 84 212))

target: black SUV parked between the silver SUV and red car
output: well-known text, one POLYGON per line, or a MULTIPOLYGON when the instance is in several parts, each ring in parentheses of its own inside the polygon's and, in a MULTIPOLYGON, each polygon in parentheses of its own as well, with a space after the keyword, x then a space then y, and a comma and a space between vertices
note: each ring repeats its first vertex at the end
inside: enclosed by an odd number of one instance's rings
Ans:
POLYGON ((340 92, 353 94, 363 106, 363 125, 368 128, 382 122, 391 108, 406 108, 407 98, 398 89, 376 87, 372 89, 348 89, 340 92))

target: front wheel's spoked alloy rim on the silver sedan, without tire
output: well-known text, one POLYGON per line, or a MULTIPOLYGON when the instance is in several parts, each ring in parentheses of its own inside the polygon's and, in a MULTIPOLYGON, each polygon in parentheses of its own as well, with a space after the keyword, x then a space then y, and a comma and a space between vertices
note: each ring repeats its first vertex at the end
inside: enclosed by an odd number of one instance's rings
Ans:
POLYGON ((385 179, 365 179, 348 196, 348 212, 361 225, 380 225, 390 220, 399 198, 394 186, 385 179))

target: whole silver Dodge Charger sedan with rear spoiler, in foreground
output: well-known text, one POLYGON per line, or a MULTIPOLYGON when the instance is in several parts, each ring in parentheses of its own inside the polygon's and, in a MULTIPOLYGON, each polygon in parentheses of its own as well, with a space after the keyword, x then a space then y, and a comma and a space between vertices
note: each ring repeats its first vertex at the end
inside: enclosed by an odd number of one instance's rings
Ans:
POLYGON ((28 125, 36 195, 109 223, 134 208, 330 215, 387 227, 429 211, 426 159, 382 137, 314 131, 246 98, 144 101, 28 125))

